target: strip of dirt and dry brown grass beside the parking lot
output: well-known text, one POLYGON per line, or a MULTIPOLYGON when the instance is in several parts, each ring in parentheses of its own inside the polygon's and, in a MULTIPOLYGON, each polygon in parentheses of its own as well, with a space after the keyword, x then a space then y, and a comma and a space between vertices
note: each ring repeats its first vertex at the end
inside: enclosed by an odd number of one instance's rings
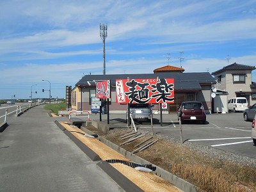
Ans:
MULTIPOLYGON (((138 140, 122 145, 124 141, 121 136, 130 129, 113 129, 104 134, 92 125, 86 129, 93 131, 106 140, 119 145, 132 152, 138 148, 141 141, 150 138, 147 134, 138 140)), ((148 141, 155 141, 147 149, 137 152, 136 155, 149 161, 152 164, 174 173, 182 179, 188 180, 198 187, 198 191, 256 191, 256 168, 223 161, 211 156, 202 154, 172 140, 154 135, 148 141)))

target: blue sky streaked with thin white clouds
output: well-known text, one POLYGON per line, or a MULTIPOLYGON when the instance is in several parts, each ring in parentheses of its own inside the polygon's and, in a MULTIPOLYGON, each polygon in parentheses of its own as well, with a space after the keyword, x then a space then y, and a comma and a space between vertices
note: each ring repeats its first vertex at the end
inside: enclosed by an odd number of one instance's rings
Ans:
POLYGON ((31 87, 33 98, 49 97, 42 79, 65 98, 66 85, 102 74, 100 23, 108 24, 106 74, 180 67, 180 52, 185 72, 256 63, 255 0, 0 0, 0 99, 28 99, 31 87))

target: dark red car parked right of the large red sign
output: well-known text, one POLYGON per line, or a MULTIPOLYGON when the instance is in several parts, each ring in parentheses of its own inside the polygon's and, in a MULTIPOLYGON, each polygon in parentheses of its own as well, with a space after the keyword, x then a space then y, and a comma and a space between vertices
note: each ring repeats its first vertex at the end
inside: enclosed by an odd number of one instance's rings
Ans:
POLYGON ((185 121, 200 121, 206 123, 206 115, 202 102, 199 101, 184 101, 178 109, 178 120, 181 124, 185 121))

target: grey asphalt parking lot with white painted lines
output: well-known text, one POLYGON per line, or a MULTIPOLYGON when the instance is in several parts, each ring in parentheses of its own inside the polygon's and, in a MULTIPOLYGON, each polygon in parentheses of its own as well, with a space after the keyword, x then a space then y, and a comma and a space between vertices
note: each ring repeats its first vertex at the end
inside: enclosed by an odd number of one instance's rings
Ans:
MULTIPOLYGON (((90 115, 91 119, 99 120, 99 115, 90 115)), ((125 127, 125 115, 109 114, 109 119, 122 122, 125 127)), ((160 115, 154 115, 155 134, 163 134, 180 140, 180 124, 176 114, 163 115, 163 122, 159 122, 160 115)), ((102 115, 102 122, 107 124, 107 115, 102 115)), ((111 122, 111 121, 110 121, 111 122)), ((200 145, 209 145, 221 150, 227 150, 243 156, 256 159, 256 146, 251 138, 252 122, 244 122, 243 113, 226 113, 207 115, 207 124, 188 122, 182 124, 184 142, 190 141, 200 145)), ((152 131, 150 122, 136 122, 138 129, 152 131)))

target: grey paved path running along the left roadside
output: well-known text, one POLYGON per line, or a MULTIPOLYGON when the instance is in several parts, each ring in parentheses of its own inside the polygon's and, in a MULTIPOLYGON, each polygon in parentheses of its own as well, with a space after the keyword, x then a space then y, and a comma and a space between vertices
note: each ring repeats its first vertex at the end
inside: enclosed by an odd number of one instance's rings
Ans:
POLYGON ((0 132, 0 191, 124 191, 47 113, 31 108, 0 132))

